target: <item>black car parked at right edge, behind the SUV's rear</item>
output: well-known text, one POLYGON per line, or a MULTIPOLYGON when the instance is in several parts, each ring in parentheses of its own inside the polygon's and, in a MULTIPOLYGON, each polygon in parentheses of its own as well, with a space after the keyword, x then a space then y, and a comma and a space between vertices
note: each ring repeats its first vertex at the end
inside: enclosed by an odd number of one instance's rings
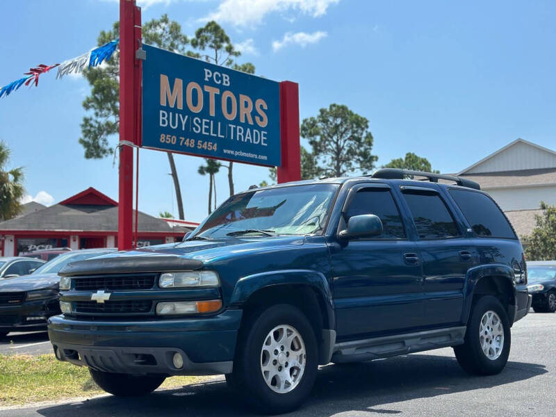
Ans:
POLYGON ((556 261, 530 261, 527 263, 529 285, 535 313, 556 311, 556 261))

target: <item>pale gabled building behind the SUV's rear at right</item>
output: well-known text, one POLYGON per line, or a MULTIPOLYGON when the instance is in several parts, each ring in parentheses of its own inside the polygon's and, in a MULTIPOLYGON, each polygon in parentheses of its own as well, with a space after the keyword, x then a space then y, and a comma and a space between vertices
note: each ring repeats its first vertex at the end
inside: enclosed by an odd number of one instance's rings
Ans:
POLYGON ((556 152, 517 139, 457 175, 480 183, 519 236, 531 233, 540 202, 556 205, 556 152))

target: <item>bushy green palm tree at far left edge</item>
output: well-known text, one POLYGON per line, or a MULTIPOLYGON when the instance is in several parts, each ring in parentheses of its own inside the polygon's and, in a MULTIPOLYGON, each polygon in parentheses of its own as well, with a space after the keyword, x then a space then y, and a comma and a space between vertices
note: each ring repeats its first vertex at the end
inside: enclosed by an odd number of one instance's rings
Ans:
POLYGON ((22 210, 19 200, 24 195, 23 168, 8 171, 10 149, 5 142, 0 142, 0 220, 14 218, 22 210))

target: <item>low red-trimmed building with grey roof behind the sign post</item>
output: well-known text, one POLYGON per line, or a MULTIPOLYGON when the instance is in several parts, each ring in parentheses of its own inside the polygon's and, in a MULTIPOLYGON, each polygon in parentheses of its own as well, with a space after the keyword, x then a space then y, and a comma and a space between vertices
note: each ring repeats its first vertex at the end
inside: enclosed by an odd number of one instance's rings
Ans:
MULTIPOLYGON (((197 225, 139 212, 138 247, 179 241, 197 225)), ((117 202, 91 187, 53 206, 33 206, 17 218, 0 222, 1 256, 50 247, 117 247, 117 202)))

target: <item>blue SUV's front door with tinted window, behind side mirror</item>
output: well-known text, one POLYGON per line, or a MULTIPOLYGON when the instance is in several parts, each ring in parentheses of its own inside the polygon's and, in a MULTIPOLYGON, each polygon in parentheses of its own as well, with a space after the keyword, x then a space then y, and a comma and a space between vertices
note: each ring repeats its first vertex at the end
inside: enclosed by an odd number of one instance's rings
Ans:
MULTIPOLYGON (((383 183, 354 186, 338 229, 353 215, 375 214, 384 232, 330 245, 338 339, 400 333, 423 323, 421 267, 398 204, 383 183)), ((337 239, 337 238, 336 238, 337 239)))

